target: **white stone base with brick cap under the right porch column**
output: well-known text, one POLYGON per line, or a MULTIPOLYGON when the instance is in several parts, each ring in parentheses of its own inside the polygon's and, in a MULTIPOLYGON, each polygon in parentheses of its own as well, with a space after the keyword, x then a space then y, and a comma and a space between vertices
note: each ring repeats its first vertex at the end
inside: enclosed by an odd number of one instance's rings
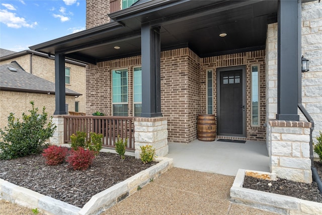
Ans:
POLYGON ((267 124, 271 173, 280 178, 311 183, 311 123, 270 120, 267 124))

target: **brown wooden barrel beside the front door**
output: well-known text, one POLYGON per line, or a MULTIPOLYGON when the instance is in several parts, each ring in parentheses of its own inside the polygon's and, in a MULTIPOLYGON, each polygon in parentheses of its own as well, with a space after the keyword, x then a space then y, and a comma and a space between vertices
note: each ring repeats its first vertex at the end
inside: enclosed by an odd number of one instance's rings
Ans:
POLYGON ((197 134, 201 141, 214 141, 216 138, 216 116, 200 114, 197 120, 197 134))

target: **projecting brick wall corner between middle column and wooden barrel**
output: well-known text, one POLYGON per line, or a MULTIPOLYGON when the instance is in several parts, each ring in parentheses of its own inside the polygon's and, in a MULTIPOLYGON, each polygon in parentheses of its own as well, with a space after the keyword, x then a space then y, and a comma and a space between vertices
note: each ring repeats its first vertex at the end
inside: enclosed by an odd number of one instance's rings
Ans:
POLYGON ((188 143, 197 137, 199 77, 199 57, 190 49, 162 52, 161 111, 168 119, 169 141, 188 143))

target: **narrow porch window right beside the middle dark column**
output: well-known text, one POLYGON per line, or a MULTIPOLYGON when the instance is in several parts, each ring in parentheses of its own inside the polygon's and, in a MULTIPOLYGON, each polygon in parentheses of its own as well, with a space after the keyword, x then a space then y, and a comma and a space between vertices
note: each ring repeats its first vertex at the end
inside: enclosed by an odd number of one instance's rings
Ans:
POLYGON ((140 116, 142 113, 142 68, 133 69, 133 115, 140 116))

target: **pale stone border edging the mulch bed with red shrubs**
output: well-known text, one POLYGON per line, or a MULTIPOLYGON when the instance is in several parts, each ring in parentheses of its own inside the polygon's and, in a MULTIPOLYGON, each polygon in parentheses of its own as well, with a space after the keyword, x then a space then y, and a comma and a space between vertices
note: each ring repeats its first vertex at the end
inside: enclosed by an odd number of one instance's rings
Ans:
POLYGON ((22 206, 38 208, 41 211, 57 215, 87 215, 100 214, 115 203, 133 194, 137 187, 143 187, 159 175, 173 167, 173 159, 165 157, 154 158, 155 164, 134 176, 94 195, 83 208, 45 196, 38 192, 20 187, 0 179, 0 198, 22 206))

